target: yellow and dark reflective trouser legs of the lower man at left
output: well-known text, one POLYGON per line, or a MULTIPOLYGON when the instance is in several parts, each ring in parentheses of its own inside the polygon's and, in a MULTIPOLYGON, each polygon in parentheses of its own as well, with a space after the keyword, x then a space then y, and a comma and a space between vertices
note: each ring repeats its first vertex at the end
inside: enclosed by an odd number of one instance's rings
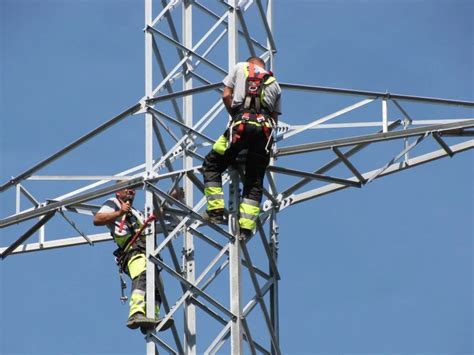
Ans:
MULTIPOLYGON (((128 316, 140 312, 146 314, 146 257, 145 254, 136 254, 132 256, 127 264, 128 273, 132 279, 132 294, 130 296, 130 312, 128 316)), ((157 275, 158 276, 158 275, 157 275)), ((160 314, 161 297, 155 295, 155 316, 160 314)))

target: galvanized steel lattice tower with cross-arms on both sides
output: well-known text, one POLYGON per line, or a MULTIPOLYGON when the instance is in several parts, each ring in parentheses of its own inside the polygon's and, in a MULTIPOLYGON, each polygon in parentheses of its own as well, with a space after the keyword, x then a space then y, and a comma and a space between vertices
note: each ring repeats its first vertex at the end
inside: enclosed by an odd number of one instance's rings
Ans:
MULTIPOLYGON (((158 1, 157 1, 158 3, 158 1)), ((26 230, 11 245, 0 249, 2 258, 10 254, 47 250, 81 244, 93 244, 109 241, 107 233, 86 234, 81 232, 80 226, 71 218, 74 214, 92 215, 98 205, 90 201, 103 199, 109 194, 124 187, 144 188, 145 206, 147 215, 157 207, 163 207, 166 215, 161 216, 159 223, 150 226, 147 230, 147 312, 153 316, 154 309, 154 278, 160 278, 160 287, 163 290, 163 277, 176 280, 179 292, 176 298, 168 299, 172 294, 172 284, 166 284, 166 291, 162 294, 163 308, 166 318, 176 320, 183 317, 183 337, 180 336, 175 325, 171 332, 151 332, 146 336, 147 354, 155 354, 156 345, 172 354, 206 354, 216 353, 224 344, 230 346, 233 354, 250 351, 265 354, 280 354, 278 332, 278 224, 277 214, 287 207, 314 199, 319 196, 346 189, 360 188, 374 179, 384 177, 405 169, 413 168, 433 160, 452 157, 453 155, 474 148, 474 119, 443 119, 417 120, 410 116, 402 106, 405 102, 435 104, 445 106, 462 106, 473 108, 473 102, 414 97, 390 93, 369 92, 360 90, 336 89, 318 86, 304 86, 282 83, 284 93, 290 90, 313 93, 329 93, 349 97, 359 97, 360 101, 344 107, 336 112, 325 115, 304 125, 294 125, 281 122, 277 132, 277 147, 274 150, 274 159, 268 169, 268 188, 265 190, 263 211, 260 216, 257 233, 251 241, 240 241, 238 235, 237 210, 239 199, 239 167, 229 170, 224 176, 224 183, 229 186, 229 226, 208 224, 201 218, 200 213, 205 206, 203 184, 200 166, 203 156, 217 136, 210 135, 210 127, 214 120, 216 126, 224 125, 226 114, 220 99, 220 80, 241 56, 238 53, 239 45, 245 48, 246 54, 262 57, 269 66, 273 65, 273 56, 276 53, 275 40, 272 34, 272 0, 220 0, 215 4, 217 9, 209 8, 209 4, 191 0, 161 0, 160 4, 152 0, 145 0, 145 97, 137 104, 125 110, 120 115, 110 119, 97 129, 91 131, 61 151, 48 157, 39 164, 26 170, 19 176, 12 178, 0 186, 0 192, 9 188, 16 188, 17 213, 0 220, 0 228, 6 228, 17 223, 32 219, 38 222, 26 230), (154 6, 155 5, 155 6, 154 6), (156 6, 159 5, 159 6, 156 6), (181 14, 179 13, 181 9, 181 14), (193 23, 195 12, 209 18, 212 26, 197 41, 193 35, 197 32, 193 23), (247 20, 252 17, 260 23, 256 33, 248 26, 247 20), (182 34, 178 35, 177 25, 181 23, 182 34), (165 28, 169 33, 165 32, 165 28), (261 38, 260 38, 261 37, 261 38), (219 49, 221 42, 226 42, 227 48, 219 49), (211 42, 212 41, 212 42, 211 42), (205 43, 207 44, 207 47, 205 43), (166 52, 165 46, 170 45, 176 52, 166 52), (215 55, 217 53, 217 56, 215 55), (173 69, 167 70, 172 56, 176 55, 173 69), (222 58, 227 63, 221 64, 222 58), (217 59, 210 59, 210 58, 217 59), (164 58, 166 58, 166 63, 164 58), (219 65, 220 64, 220 65, 219 65), (203 68, 203 70, 201 70, 203 68), (214 73, 212 73, 214 72, 214 73), (158 73, 158 74, 157 74, 158 73), (157 79, 160 77, 161 79, 157 79), (210 79, 209 79, 210 78, 210 79), (195 86, 199 82, 199 86, 195 86), (180 85, 181 83, 181 85, 180 85), (203 99, 202 95, 207 95, 203 99), (193 101, 199 95, 200 101, 193 101), (178 105, 182 100, 182 107, 178 105), (331 120, 349 116, 353 111, 366 107, 374 102, 381 102, 381 119, 377 121, 328 123, 331 120), (400 119, 389 120, 388 104, 394 107, 395 114, 400 119), (168 106, 166 106, 168 105, 168 106), (197 115, 196 108, 209 107, 204 114, 197 115), (169 109, 172 113, 165 112, 169 109), (120 121, 133 115, 143 115, 145 119, 145 160, 142 164, 127 171, 112 173, 109 176, 39 176, 36 172, 53 163, 76 147, 86 143, 101 132, 107 130, 120 121), (224 118, 223 118, 224 117, 224 118), (199 119, 196 119, 199 118, 199 119), (220 122, 219 122, 220 121, 220 122), (415 126, 420 126, 413 128, 415 126), (357 128, 380 129, 372 134, 336 138, 332 140, 314 142, 306 141, 299 145, 285 145, 285 140, 300 133, 309 133, 313 129, 337 128, 340 130, 357 128), (448 142, 455 137, 455 143, 448 142), (398 140, 401 142, 397 154, 389 155, 386 163, 376 166, 373 170, 361 172, 351 157, 366 150, 375 143, 398 140), (439 149, 432 149, 420 155, 413 155, 415 148, 422 142, 432 140, 439 149), (154 145, 159 148, 155 151, 154 145), (325 165, 302 171, 291 166, 291 161, 285 162, 285 167, 278 165, 276 159, 283 159, 287 155, 301 155, 311 152, 329 151, 334 158, 325 165), (340 178, 328 175, 336 167, 345 167, 349 177, 340 178), (296 177, 296 182, 288 183, 288 179, 281 182, 276 175, 296 177), (28 180, 97 180, 70 193, 38 201, 34 194, 25 187, 28 180), (115 183, 115 181, 119 181, 115 183), (304 190, 310 184, 322 182, 322 186, 304 190), (160 184, 161 187, 158 187, 160 184), (176 200, 170 192, 182 186, 185 191, 183 200, 176 200), (21 210, 21 197, 26 197, 34 208, 21 210), (55 216, 65 219, 71 227, 80 234, 78 237, 48 240, 44 226, 55 216), (163 236, 157 246, 157 233, 163 236), (29 239, 39 235, 36 243, 29 239), (206 245, 213 250, 205 253, 202 259, 196 242, 206 245), (257 246, 248 248, 247 245, 257 243, 264 256, 264 262, 256 264, 257 258, 252 257, 257 246), (175 251, 176 243, 183 245, 182 261, 179 261, 175 251), (168 257, 159 257, 164 251, 168 257), (162 271, 155 274, 155 266, 162 271), (228 284, 224 292, 212 289, 213 284, 222 288, 220 275, 228 270, 228 284), (246 278, 245 278, 246 277, 246 278), (219 280, 221 283, 219 284, 219 280), (243 289, 251 289, 245 293, 243 289), (223 297, 223 294, 225 297, 223 297), (198 313, 201 312, 201 313, 198 313), (217 331, 214 335, 197 336, 202 332, 199 327, 199 314, 206 314, 209 319, 217 322, 217 331), (249 324, 249 317, 256 314, 259 324, 249 324), (265 329, 264 334, 256 329, 265 329), (261 338, 263 337, 264 342, 261 338), (229 345, 230 344, 230 345, 229 345)), ((293 122, 296 123, 296 122, 293 122)), ((379 151, 378 154, 384 154, 379 151)), ((203 254, 204 255, 204 254, 203 254)), ((174 296, 174 295, 173 295, 174 296)), ((208 321, 208 320, 207 320, 208 321)), ((177 322, 178 323, 178 322, 177 322)), ((202 334, 202 333, 201 333, 202 334)))

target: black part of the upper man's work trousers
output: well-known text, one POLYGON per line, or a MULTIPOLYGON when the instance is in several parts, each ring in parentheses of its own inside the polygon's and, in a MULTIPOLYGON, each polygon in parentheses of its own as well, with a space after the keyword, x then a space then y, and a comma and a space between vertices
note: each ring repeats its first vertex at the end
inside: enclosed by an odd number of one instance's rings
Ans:
MULTIPOLYGON (((236 136, 238 127, 239 124, 229 128, 232 129, 231 137, 236 136)), ((211 182, 222 183, 222 173, 229 165, 235 163, 237 155, 239 155, 242 150, 248 149, 245 162, 242 198, 260 203, 263 194, 265 171, 270 162, 270 152, 267 148, 269 149, 271 146, 271 142, 269 142, 269 139, 271 139, 271 129, 268 128, 268 131, 269 136, 267 137, 261 125, 246 122, 244 130, 240 134, 240 138, 230 143, 224 154, 221 155, 211 150, 202 165, 204 184, 211 182)), ((228 136, 227 138, 229 139, 230 137, 228 136)))

